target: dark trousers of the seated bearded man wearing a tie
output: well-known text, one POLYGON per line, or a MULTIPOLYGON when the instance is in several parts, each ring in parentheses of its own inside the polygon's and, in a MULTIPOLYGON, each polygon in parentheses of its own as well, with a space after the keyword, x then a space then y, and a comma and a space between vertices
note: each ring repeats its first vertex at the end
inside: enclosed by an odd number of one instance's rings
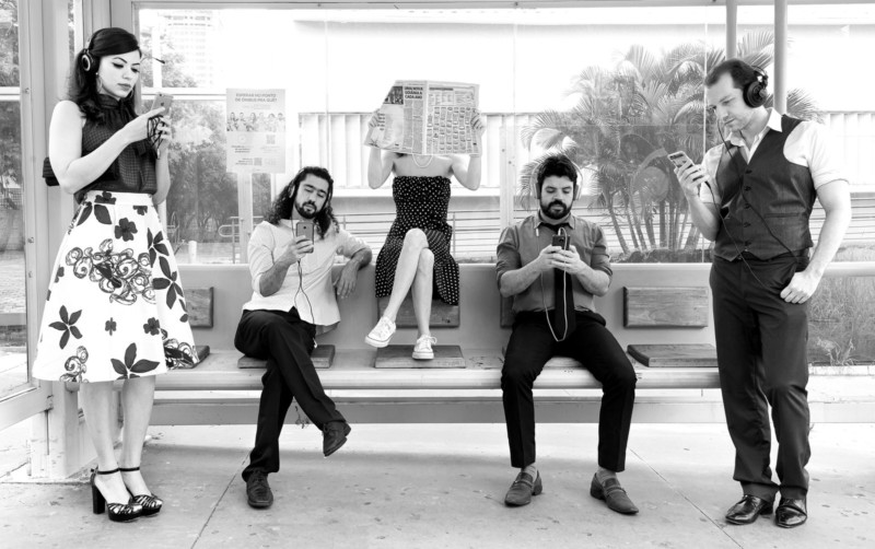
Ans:
POLYGON ((598 414, 598 465, 612 471, 626 468, 626 444, 635 400, 635 372, 605 319, 576 312, 576 328, 565 341, 553 340, 544 312, 518 313, 504 353, 501 389, 511 465, 535 463, 535 400, 532 386, 544 364, 556 354, 581 362, 602 383, 598 414))

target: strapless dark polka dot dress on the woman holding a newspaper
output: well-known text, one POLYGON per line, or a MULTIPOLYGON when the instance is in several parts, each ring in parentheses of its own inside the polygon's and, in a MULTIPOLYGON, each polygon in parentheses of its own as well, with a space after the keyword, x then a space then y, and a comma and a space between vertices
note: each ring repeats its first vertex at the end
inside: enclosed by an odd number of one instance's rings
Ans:
POLYGON ((392 294, 404 236, 411 229, 421 229, 429 241, 429 248, 434 254, 436 296, 450 305, 458 305, 458 265, 450 255, 453 229, 446 223, 450 179, 396 176, 392 196, 395 199, 397 217, 376 258, 376 296, 385 297, 392 294))

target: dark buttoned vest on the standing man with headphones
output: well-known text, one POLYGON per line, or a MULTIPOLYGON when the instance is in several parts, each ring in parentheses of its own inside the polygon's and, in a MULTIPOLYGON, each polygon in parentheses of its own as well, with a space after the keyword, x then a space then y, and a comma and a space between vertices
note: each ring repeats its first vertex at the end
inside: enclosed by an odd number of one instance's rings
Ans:
POLYGON ((738 147, 724 147, 716 173, 723 196, 718 257, 733 260, 748 252, 771 259, 813 245, 808 218, 817 198, 814 179, 807 166, 784 156, 784 143, 801 121, 782 116, 781 131, 769 129, 750 162, 738 147))

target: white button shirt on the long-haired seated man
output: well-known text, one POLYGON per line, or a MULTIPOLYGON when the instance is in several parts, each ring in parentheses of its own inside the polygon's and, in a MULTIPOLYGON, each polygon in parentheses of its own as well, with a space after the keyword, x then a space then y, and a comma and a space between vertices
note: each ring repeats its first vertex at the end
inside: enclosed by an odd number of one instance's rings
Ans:
POLYGON ((337 297, 331 282, 335 256, 352 257, 368 244, 340 229, 331 226, 324 237, 316 232, 313 253, 305 254, 289 267, 285 280, 277 293, 261 295, 261 276, 273 267, 285 247, 294 243, 294 225, 288 219, 279 225, 267 221, 259 223, 249 238, 249 272, 253 276, 253 297, 243 305, 244 311, 291 311, 298 308, 301 319, 318 326, 330 326, 340 320, 337 297), (303 280, 303 284, 302 284, 303 280))

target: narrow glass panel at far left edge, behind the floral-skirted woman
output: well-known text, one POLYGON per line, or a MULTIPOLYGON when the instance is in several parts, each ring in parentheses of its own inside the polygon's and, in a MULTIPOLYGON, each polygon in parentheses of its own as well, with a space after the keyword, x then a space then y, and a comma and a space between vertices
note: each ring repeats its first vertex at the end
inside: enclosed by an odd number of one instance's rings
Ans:
POLYGON ((0 4, 0 398, 28 381, 18 2, 0 4))

